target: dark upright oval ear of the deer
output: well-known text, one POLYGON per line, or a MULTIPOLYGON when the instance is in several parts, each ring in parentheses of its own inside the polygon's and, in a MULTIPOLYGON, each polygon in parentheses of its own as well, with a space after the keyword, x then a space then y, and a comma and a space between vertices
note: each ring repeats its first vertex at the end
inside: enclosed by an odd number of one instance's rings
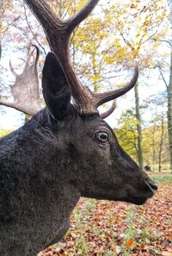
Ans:
POLYGON ((62 119, 67 115, 71 88, 59 59, 53 53, 46 55, 42 72, 42 92, 46 107, 55 119, 62 119))

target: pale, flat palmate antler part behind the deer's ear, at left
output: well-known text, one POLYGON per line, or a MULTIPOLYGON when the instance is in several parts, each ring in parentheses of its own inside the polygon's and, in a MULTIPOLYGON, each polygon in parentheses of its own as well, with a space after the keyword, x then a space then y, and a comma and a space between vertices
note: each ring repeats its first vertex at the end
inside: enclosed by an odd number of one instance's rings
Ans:
MULTIPOLYGON (((34 45, 33 45, 34 46, 34 45)), ((40 93, 39 93, 39 80, 38 80, 38 59, 40 56, 40 50, 36 48, 36 57, 34 62, 30 65, 30 59, 34 54, 34 50, 29 54, 23 72, 19 75, 15 72, 11 62, 9 61, 9 67, 13 75, 15 76, 15 84, 10 86, 10 90, 14 97, 14 102, 6 102, 0 100, 0 105, 4 105, 10 108, 22 111, 25 114, 34 116, 41 109, 40 93)))

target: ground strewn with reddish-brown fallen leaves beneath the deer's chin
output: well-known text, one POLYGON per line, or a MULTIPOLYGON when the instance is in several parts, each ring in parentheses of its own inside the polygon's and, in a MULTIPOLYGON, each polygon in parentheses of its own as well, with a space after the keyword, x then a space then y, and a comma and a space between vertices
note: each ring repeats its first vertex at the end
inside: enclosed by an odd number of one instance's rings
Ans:
POLYGON ((82 198, 64 240, 38 255, 172 256, 172 185, 144 206, 82 198))

